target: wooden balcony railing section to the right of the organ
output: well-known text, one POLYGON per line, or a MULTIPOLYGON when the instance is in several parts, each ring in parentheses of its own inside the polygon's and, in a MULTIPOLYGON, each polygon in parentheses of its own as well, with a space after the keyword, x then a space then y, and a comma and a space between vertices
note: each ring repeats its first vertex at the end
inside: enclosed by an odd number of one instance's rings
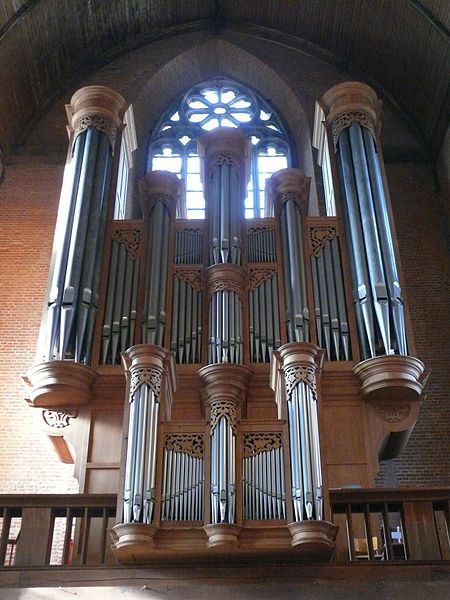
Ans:
POLYGON ((450 488, 330 490, 336 561, 450 560, 450 488))

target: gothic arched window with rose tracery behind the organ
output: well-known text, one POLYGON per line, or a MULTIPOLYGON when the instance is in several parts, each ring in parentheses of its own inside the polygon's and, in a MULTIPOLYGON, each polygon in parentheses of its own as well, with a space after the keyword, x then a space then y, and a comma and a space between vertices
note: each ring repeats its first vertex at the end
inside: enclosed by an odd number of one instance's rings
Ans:
POLYGON ((191 88, 159 120, 150 141, 149 167, 176 173, 184 182, 187 217, 205 215, 197 139, 217 127, 239 127, 252 141, 245 216, 264 216, 266 180, 290 166, 285 129, 268 104, 247 87, 215 79, 191 88))

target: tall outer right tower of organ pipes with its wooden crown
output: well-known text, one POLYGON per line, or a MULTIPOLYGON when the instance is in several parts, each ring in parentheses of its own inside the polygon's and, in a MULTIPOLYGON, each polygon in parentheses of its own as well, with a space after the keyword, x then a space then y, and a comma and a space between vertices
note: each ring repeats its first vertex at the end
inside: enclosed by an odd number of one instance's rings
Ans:
POLYGON ((404 307, 388 201, 376 146, 380 103, 350 82, 322 98, 337 152, 361 354, 407 354, 404 307))

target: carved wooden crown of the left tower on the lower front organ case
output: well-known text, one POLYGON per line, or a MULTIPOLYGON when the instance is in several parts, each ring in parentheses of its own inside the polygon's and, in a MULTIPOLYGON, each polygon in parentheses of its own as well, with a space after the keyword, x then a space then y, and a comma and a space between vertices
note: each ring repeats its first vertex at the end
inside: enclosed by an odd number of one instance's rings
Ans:
MULTIPOLYGON (((128 400, 133 402, 136 391, 148 386, 159 401, 171 401, 176 389, 175 365, 171 352, 161 346, 138 344, 122 354, 122 362, 128 382, 128 400)), ((166 411, 170 407, 166 406, 166 411)))

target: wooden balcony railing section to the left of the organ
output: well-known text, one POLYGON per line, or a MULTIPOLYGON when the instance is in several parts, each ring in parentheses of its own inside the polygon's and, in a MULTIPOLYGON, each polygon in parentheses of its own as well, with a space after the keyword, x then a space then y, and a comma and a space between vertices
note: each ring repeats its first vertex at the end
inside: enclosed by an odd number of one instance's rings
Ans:
POLYGON ((116 564, 114 494, 0 495, 0 565, 116 564))

